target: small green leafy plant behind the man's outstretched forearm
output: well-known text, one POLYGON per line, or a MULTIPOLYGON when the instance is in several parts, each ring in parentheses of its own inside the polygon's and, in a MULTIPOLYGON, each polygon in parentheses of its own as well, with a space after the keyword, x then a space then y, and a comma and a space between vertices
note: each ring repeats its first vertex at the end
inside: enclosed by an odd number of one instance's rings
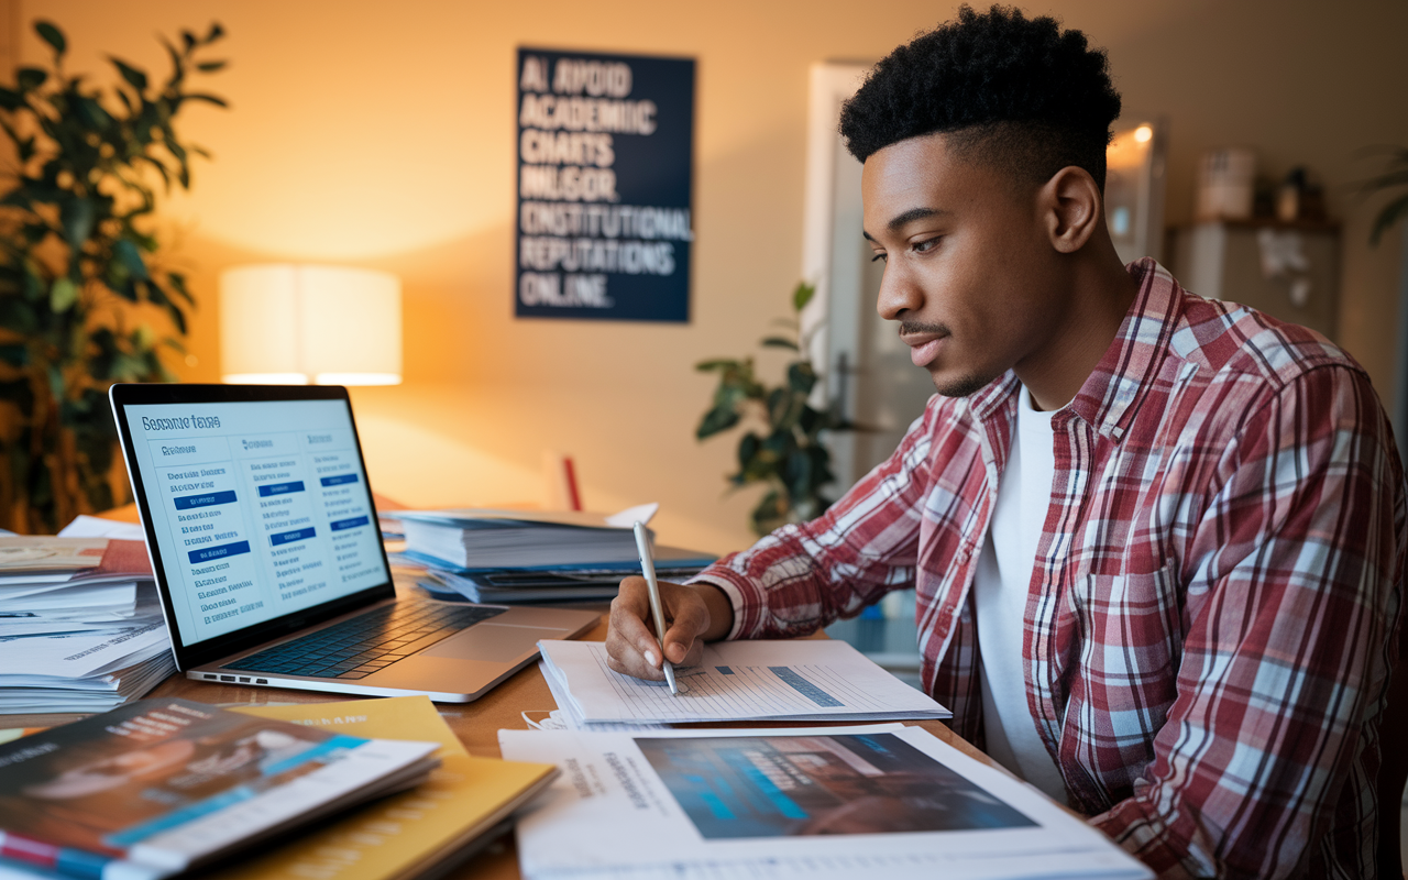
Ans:
POLYGON ((704 413, 696 438, 707 439, 739 425, 745 418, 758 429, 748 429, 738 441, 738 473, 727 479, 735 487, 767 484, 767 491, 753 508, 749 524, 766 535, 787 522, 801 522, 821 515, 831 501, 822 487, 831 473, 831 452, 821 442, 821 432, 832 425, 828 410, 811 406, 817 370, 807 356, 811 334, 801 332, 801 310, 817 293, 807 283, 797 284, 791 306, 797 318, 780 320, 790 335, 767 337, 766 348, 797 352, 787 365, 784 382, 767 386, 758 379, 752 358, 703 360, 694 369, 718 373, 714 403, 704 413))

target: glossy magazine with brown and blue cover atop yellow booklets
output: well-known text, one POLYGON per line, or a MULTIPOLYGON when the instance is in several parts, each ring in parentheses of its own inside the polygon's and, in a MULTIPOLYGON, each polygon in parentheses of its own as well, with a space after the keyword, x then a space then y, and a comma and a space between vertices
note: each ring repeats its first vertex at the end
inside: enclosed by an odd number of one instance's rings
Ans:
POLYGON ((166 877, 414 786, 436 748, 142 700, 0 745, 0 860, 166 877))

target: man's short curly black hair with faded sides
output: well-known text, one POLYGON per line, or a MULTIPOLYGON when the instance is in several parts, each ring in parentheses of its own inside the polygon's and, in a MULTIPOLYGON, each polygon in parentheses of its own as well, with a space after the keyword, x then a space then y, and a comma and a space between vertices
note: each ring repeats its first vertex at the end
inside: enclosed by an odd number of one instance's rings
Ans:
POLYGON ((1105 187, 1119 93, 1104 49, 1048 15, 964 4, 874 66, 841 110, 846 149, 865 162, 891 144, 953 134, 950 146, 1029 183, 1074 165, 1105 187))

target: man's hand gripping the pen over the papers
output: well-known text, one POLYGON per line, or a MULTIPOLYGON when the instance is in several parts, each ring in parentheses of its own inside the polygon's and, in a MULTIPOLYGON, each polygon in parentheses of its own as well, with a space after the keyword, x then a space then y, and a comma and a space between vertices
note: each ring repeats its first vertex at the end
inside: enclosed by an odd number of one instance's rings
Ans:
MULTIPOLYGON (((714 642, 734 627, 734 607, 722 590, 711 584, 681 586, 660 582, 665 612, 665 659, 677 666, 697 666, 704 642, 714 642)), ((627 577, 611 601, 607 631, 607 665, 611 669, 662 681, 660 641, 655 636, 650 593, 643 577, 627 577)))

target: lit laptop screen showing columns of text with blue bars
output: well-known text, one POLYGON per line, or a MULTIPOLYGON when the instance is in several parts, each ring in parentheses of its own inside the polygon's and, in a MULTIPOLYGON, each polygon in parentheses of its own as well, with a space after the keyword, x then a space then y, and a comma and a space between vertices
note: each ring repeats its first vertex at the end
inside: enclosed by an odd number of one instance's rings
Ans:
POLYGON ((344 401, 125 414, 182 645, 390 580, 344 401))

